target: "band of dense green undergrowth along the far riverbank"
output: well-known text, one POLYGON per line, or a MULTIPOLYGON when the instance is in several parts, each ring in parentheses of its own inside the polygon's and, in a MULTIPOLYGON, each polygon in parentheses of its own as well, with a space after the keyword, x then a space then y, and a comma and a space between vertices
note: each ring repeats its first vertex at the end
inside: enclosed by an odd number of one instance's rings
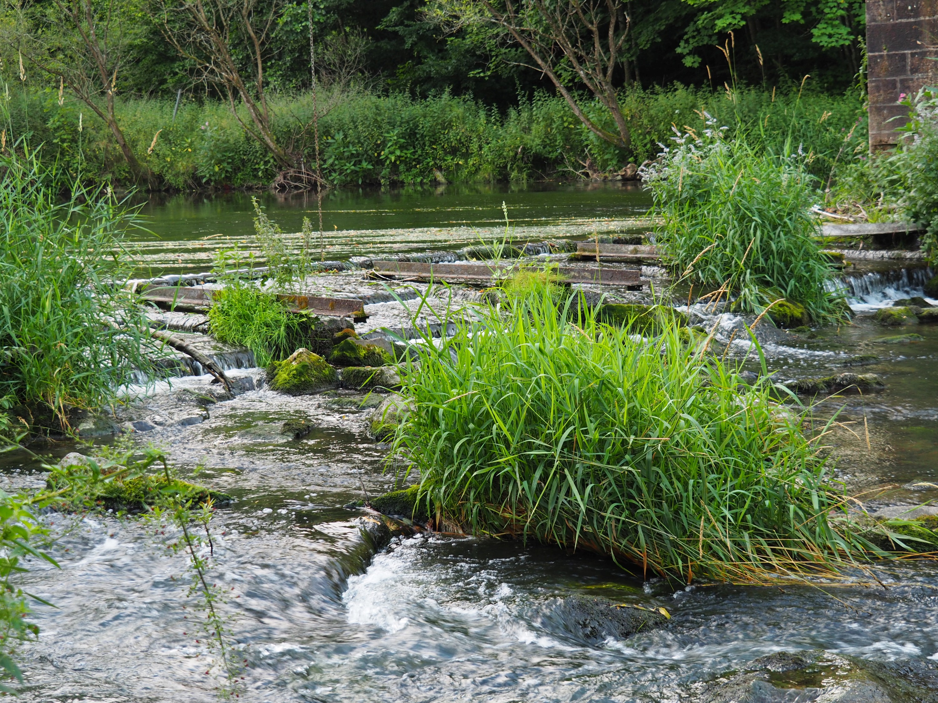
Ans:
MULTIPOLYGON (((634 88, 621 95, 632 131, 632 147, 624 153, 582 127, 562 99, 546 94, 522 99, 505 113, 469 97, 447 95, 416 99, 348 91, 336 100, 320 125, 325 177, 336 185, 427 183, 435 180, 434 170, 450 181, 569 178, 588 175, 583 166, 587 160, 596 172, 613 172, 628 160, 640 164, 655 158, 658 143, 673 136, 673 126, 705 128, 704 111, 720 126, 762 130, 777 149, 783 137, 776 135, 791 134, 795 148, 804 143, 810 152, 809 168, 826 179, 844 135, 863 118, 861 100, 852 93, 798 100, 796 92, 755 88, 730 94, 680 86, 634 88)), ((309 94, 271 98, 270 106, 281 141, 310 123, 309 94)), ((129 179, 110 131, 75 103, 59 106, 53 90, 14 92, 10 107, 11 131, 28 132, 33 142, 43 142, 46 157, 57 159, 68 172, 129 179)), ((128 141, 158 184, 180 189, 264 187, 273 180, 277 168, 271 157, 227 105, 184 104, 175 120, 173 107, 172 100, 158 99, 117 104, 128 141)), ((593 107, 598 121, 608 119, 598 105, 593 107)), ((861 132, 865 134, 865 123, 853 134, 861 132)), ((313 158, 311 144, 305 153, 313 158)))

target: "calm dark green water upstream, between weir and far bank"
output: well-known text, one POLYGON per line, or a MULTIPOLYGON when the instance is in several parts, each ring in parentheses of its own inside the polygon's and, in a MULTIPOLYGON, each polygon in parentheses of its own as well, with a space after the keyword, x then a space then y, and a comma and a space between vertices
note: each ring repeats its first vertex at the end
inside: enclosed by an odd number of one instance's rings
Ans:
MULTIPOLYGON (((641 187, 622 183, 336 189, 323 196, 321 238, 315 194, 254 197, 297 251, 295 232, 309 217, 310 247, 330 261, 501 239, 503 202, 508 236, 530 241, 633 230, 651 204, 641 187)), ((221 248, 257 252, 250 194, 153 196, 142 214, 152 234, 136 237, 140 276, 208 270, 221 248)))

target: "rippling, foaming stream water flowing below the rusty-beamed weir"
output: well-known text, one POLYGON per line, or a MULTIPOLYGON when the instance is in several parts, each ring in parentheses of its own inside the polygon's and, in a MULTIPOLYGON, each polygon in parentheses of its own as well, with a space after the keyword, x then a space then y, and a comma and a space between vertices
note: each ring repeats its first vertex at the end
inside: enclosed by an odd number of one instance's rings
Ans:
MULTIPOLYGON (((920 295, 925 276, 867 268, 845 285, 855 309, 869 312, 920 295)), ((833 436, 840 475, 856 490, 895 486, 880 502, 938 498, 933 487, 902 487, 938 483, 938 326, 885 330, 861 317, 767 349, 769 366, 792 378, 828 375, 851 356, 876 354, 862 370, 881 375, 886 390, 836 401, 849 428, 833 436), (878 343, 910 331, 924 339, 878 343)), ((373 398, 361 407, 362 396, 262 389, 208 403, 189 421, 183 401, 207 392, 209 381, 162 384, 134 411, 153 420, 141 441, 165 447, 184 474, 237 499, 213 522, 211 578, 229 593, 222 611, 247 663, 239 699, 651 703, 687 700, 701 682, 775 651, 938 659, 931 562, 885 568, 888 588, 828 594, 675 591, 587 554, 447 535, 395 538, 373 553, 356 522, 361 511, 343 507, 400 485, 383 471, 386 447, 366 432, 373 398), (302 440, 279 431, 296 418, 315 427, 302 440), (576 594, 664 606, 673 619, 628 639, 587 641, 562 607, 576 594)), ((71 449, 63 444, 53 454, 71 449)), ((40 479, 25 457, 5 460, 14 483, 40 479)), ((21 699, 217 699, 197 599, 187 597, 187 560, 167 548, 178 535, 113 516, 47 519, 60 535, 50 549, 61 568, 32 563, 23 588, 56 607, 35 609, 41 635, 21 652, 21 699)))

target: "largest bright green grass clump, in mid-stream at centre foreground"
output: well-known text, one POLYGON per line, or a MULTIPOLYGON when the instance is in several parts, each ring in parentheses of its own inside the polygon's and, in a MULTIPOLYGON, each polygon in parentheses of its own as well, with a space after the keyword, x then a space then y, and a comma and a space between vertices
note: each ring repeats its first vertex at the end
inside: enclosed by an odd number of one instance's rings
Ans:
POLYGON ((741 392, 678 328, 643 339, 547 287, 508 306, 453 316, 454 337, 401 366, 411 410, 391 456, 438 524, 684 582, 836 576, 884 554, 767 385, 741 392))

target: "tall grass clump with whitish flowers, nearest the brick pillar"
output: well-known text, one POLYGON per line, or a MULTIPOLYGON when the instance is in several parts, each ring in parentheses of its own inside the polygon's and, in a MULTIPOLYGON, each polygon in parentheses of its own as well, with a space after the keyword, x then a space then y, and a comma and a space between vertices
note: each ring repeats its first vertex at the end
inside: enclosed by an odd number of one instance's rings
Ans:
POLYGON ((742 310, 761 312, 782 298, 817 322, 837 318, 842 307, 826 289, 833 270, 809 213, 820 200, 817 181, 803 155, 756 151, 714 125, 674 142, 644 170, 673 274, 700 293, 733 296, 742 310))

